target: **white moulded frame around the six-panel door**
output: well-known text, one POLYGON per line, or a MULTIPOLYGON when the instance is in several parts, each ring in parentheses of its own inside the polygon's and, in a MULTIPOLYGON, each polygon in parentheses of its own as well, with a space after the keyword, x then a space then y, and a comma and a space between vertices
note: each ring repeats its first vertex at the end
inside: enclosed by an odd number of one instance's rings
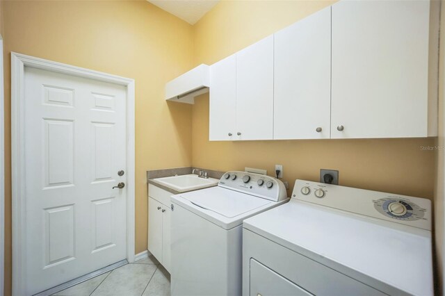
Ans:
POLYGON ((135 82, 120 76, 56 63, 42 58, 11 53, 11 148, 12 148, 12 183, 13 183, 13 295, 23 295, 26 282, 26 232, 25 224, 25 156, 24 156, 24 67, 34 67, 51 72, 94 79, 127 88, 127 260, 134 261, 135 231, 135 140, 134 140, 134 97, 135 82), (23 247, 23 248, 22 248, 23 247))

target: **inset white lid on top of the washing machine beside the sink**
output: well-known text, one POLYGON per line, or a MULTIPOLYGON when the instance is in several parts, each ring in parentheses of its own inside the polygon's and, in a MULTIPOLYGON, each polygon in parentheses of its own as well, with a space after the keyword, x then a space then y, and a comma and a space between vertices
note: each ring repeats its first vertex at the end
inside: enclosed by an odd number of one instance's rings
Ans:
POLYGON ((260 197, 224 188, 218 189, 220 190, 211 190, 211 195, 204 190, 197 190, 181 196, 195 206, 228 218, 236 217, 270 203, 269 200, 260 197))

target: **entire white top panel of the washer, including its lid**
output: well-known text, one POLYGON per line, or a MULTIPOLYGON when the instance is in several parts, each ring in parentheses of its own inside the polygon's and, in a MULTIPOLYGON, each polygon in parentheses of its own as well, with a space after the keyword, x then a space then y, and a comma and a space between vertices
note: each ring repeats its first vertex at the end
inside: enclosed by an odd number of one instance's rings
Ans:
POLYGON ((173 195, 171 200, 226 230, 240 226, 252 215, 289 201, 272 202, 219 186, 173 195))

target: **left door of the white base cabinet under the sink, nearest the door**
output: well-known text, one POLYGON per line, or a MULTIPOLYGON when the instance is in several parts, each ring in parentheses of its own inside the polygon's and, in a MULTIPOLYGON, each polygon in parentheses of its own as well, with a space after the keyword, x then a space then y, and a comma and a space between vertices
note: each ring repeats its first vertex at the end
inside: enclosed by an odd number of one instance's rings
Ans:
POLYGON ((148 198, 148 250, 162 263, 162 204, 148 198))

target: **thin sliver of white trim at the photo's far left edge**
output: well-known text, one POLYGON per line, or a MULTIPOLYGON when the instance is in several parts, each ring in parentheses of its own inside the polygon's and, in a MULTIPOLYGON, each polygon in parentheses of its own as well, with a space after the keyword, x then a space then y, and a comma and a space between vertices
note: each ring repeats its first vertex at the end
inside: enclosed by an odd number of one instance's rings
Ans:
POLYGON ((0 35, 0 296, 5 283, 5 90, 3 89, 3 37, 0 35))

